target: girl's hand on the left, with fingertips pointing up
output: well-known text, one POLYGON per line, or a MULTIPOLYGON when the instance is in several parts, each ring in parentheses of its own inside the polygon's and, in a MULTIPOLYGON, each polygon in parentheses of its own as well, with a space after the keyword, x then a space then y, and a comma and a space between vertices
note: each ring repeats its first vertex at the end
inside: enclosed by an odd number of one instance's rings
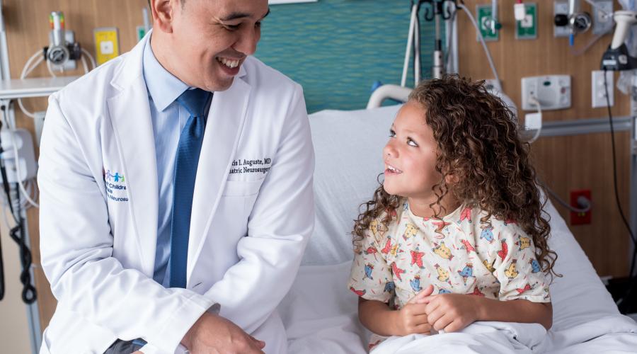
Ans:
POLYGON ((396 311, 394 317, 394 328, 396 335, 407 336, 408 334, 420 333, 429 334, 431 325, 427 321, 427 304, 423 299, 429 297, 433 292, 433 285, 419 292, 412 297, 402 309, 396 311))

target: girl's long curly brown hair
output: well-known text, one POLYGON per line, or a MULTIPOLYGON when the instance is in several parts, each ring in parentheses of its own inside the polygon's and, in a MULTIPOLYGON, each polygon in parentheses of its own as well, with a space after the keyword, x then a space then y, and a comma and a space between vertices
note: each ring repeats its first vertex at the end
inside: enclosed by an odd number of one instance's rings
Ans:
MULTIPOLYGON (((484 81, 447 75, 442 79, 423 81, 409 101, 423 108, 423 119, 433 131, 437 142, 435 169, 440 181, 432 186, 437 200, 430 205, 440 217, 440 201, 453 193, 468 207, 479 207, 488 215, 481 222, 488 224, 493 215, 498 219, 513 219, 532 236, 536 258, 542 270, 556 275, 553 265, 557 254, 549 249, 551 232, 549 215, 543 207, 536 172, 529 159, 529 143, 522 142, 514 115, 500 98, 488 93, 484 81), (452 185, 447 176, 454 176, 452 185)), ((391 211, 396 210, 401 196, 386 193, 381 186, 355 220, 352 235, 355 249, 372 220, 386 226, 391 211)))

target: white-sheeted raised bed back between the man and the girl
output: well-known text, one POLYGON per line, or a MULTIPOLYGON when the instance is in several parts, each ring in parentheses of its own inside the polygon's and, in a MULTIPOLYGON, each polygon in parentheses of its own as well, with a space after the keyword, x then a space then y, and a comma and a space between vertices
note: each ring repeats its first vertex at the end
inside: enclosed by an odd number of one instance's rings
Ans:
POLYGON ((316 154, 316 226, 302 264, 352 259, 358 206, 372 199, 383 172, 382 149, 400 105, 373 110, 321 110, 309 116, 316 154))

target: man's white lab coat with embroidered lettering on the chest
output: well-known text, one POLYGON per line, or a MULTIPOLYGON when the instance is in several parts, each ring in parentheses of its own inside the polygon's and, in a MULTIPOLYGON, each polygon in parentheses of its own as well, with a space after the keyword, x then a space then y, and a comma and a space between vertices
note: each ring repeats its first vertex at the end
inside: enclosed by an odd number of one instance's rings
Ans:
POLYGON ((50 97, 38 173, 40 249, 58 306, 41 353, 103 353, 116 338, 144 338, 146 354, 179 352, 185 332, 214 304, 265 341, 266 353, 285 353, 275 308, 314 227, 302 89, 249 57, 231 87, 214 93, 188 284, 165 289, 152 279, 159 190, 142 75, 147 38, 50 97))

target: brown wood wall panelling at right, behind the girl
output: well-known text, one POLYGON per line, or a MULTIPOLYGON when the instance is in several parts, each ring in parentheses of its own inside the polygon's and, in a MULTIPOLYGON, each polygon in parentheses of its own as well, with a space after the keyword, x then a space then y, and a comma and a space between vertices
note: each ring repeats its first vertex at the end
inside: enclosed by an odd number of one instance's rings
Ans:
MULTIPOLYGON (((525 1, 527 3, 532 1, 525 1)), ((476 13, 476 4, 490 4, 488 0, 466 0, 466 6, 476 13)), ((488 48, 498 69, 503 90, 521 107, 520 79, 524 76, 570 74, 573 106, 567 110, 543 113, 544 122, 607 117, 606 108, 591 108, 590 72, 599 69, 602 53, 611 35, 600 38, 583 55, 574 55, 568 38, 553 37, 553 1, 536 1, 538 6, 538 38, 515 40, 513 0, 500 4, 500 40, 488 42, 488 48)), ((585 10, 588 4, 582 1, 585 10)), ((617 6, 617 4, 615 4, 617 6)), ((472 79, 491 79, 488 61, 476 41, 476 30, 462 11, 458 15, 460 74, 472 79)), ((592 31, 575 38, 575 50, 592 38, 592 31)), ((619 74, 615 75, 615 82, 619 74)), ((614 115, 629 115, 629 97, 614 91, 614 115)), ((520 113, 523 114, 522 110, 520 113)), ((629 134, 616 135, 619 193, 625 212, 629 211, 629 134)), ((629 236, 617 211, 613 191, 612 151, 609 133, 573 137, 541 138, 532 145, 539 175, 558 195, 569 199, 570 190, 592 191, 592 223, 570 226, 580 245, 592 261, 599 275, 628 274, 629 236)), ((570 213, 553 202, 569 223, 570 213)))

